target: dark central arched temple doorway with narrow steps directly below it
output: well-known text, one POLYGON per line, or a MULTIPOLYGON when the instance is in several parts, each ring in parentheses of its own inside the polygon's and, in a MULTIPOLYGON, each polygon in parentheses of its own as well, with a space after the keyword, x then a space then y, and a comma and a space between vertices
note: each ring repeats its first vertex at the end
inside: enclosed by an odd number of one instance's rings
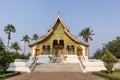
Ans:
POLYGON ((63 40, 54 40, 53 41, 53 62, 62 62, 62 54, 64 49, 63 40))

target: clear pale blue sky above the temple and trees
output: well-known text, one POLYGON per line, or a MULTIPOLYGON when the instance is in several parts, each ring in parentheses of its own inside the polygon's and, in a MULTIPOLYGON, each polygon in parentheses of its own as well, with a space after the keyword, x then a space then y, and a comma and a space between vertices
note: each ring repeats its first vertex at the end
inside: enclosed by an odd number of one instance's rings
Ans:
POLYGON ((120 0, 0 0, 0 38, 7 42, 4 27, 13 24, 11 42, 21 42, 25 34, 43 35, 53 25, 58 11, 74 35, 90 27, 92 55, 102 44, 120 36, 120 0))

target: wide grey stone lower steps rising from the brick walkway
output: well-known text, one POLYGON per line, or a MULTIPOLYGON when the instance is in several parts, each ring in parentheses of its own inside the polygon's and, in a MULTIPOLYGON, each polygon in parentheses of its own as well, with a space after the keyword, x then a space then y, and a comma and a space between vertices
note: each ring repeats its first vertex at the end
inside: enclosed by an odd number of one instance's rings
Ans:
POLYGON ((41 63, 33 72, 81 72, 79 63, 41 63))

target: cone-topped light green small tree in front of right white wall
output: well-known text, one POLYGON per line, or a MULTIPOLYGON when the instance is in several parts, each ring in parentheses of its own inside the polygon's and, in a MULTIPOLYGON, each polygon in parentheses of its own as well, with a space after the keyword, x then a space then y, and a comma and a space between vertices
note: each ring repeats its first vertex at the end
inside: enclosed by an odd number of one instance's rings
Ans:
POLYGON ((112 73, 114 64, 118 62, 118 59, 114 55, 112 55, 111 52, 107 49, 102 56, 102 61, 104 61, 107 72, 112 73))

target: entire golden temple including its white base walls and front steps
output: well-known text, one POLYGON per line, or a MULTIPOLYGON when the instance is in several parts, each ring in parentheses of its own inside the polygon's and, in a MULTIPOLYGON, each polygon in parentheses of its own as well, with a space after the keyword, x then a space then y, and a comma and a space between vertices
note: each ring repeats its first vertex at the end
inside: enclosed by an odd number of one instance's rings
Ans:
POLYGON ((14 62, 8 71, 91 72, 106 70, 101 60, 88 59, 89 45, 70 33, 60 15, 57 16, 48 32, 30 43, 29 47, 29 60, 14 62))

